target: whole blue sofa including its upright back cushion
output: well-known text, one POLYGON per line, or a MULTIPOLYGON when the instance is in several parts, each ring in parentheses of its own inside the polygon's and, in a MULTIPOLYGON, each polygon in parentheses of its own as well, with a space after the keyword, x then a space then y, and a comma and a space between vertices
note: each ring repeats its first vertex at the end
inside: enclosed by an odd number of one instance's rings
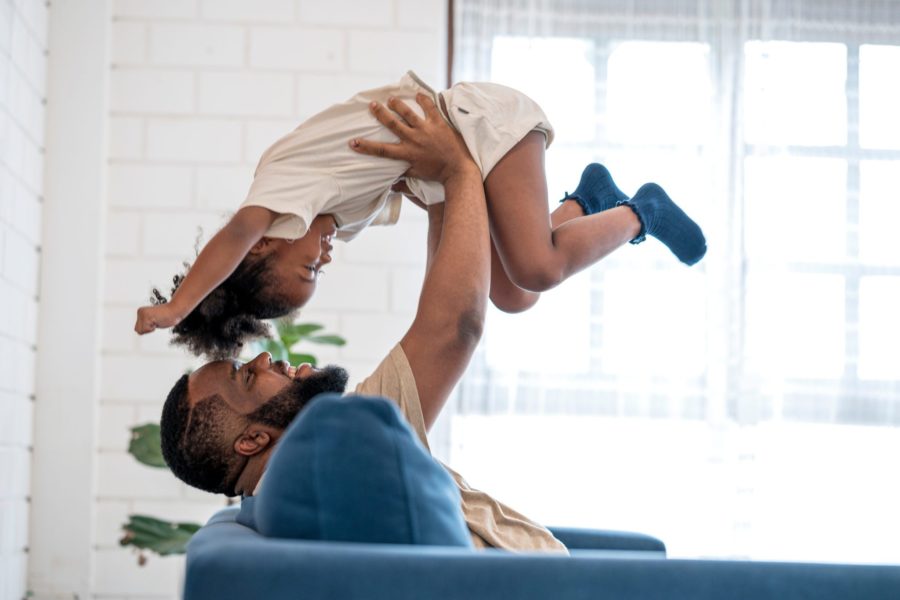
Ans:
POLYGON ((260 493, 194 535, 184 597, 900 599, 900 565, 668 560, 633 533, 553 530, 571 556, 476 551, 459 502, 392 403, 319 396, 260 493))

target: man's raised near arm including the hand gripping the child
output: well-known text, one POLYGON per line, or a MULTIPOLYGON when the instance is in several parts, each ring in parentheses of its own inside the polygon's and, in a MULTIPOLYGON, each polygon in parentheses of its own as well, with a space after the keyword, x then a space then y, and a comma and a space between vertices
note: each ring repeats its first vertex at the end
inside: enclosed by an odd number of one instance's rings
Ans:
POLYGON ((408 175, 444 185, 443 214, 429 211, 428 239, 436 244, 431 266, 416 317, 400 340, 430 428, 481 339, 490 288, 490 234, 481 172, 434 103, 421 95, 416 100, 425 109, 424 120, 399 101, 389 106, 403 120, 380 105, 373 108, 399 143, 354 140, 351 146, 408 161, 408 175))

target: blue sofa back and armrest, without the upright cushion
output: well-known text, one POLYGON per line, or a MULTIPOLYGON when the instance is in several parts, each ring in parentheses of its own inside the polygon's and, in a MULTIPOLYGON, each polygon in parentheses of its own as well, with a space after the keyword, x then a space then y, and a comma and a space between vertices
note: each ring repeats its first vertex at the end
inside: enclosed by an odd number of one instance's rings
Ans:
POLYGON ((554 529, 572 555, 268 539, 220 511, 188 546, 185 600, 900 598, 900 566, 671 560, 639 534, 554 529))

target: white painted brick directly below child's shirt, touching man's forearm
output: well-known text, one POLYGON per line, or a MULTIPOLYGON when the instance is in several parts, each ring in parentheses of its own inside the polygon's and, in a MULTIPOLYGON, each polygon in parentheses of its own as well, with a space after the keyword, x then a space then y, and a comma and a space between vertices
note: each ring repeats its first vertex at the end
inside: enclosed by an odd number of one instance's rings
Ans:
MULTIPOLYGON (((407 203, 402 210, 420 209, 407 203)), ((344 259, 357 264, 424 265, 427 256, 426 234, 427 225, 420 222, 369 227, 347 244, 344 259)))

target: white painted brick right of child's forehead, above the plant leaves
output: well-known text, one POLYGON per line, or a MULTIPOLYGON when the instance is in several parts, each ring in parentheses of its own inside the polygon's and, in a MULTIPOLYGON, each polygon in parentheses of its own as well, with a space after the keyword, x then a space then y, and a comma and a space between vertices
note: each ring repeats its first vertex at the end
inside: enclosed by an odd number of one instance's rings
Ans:
POLYGON ((357 267, 340 264, 335 259, 325 271, 315 296, 307 305, 310 310, 387 310, 388 272, 384 267, 357 267), (359 293, 360 290, 365 293, 359 293))

